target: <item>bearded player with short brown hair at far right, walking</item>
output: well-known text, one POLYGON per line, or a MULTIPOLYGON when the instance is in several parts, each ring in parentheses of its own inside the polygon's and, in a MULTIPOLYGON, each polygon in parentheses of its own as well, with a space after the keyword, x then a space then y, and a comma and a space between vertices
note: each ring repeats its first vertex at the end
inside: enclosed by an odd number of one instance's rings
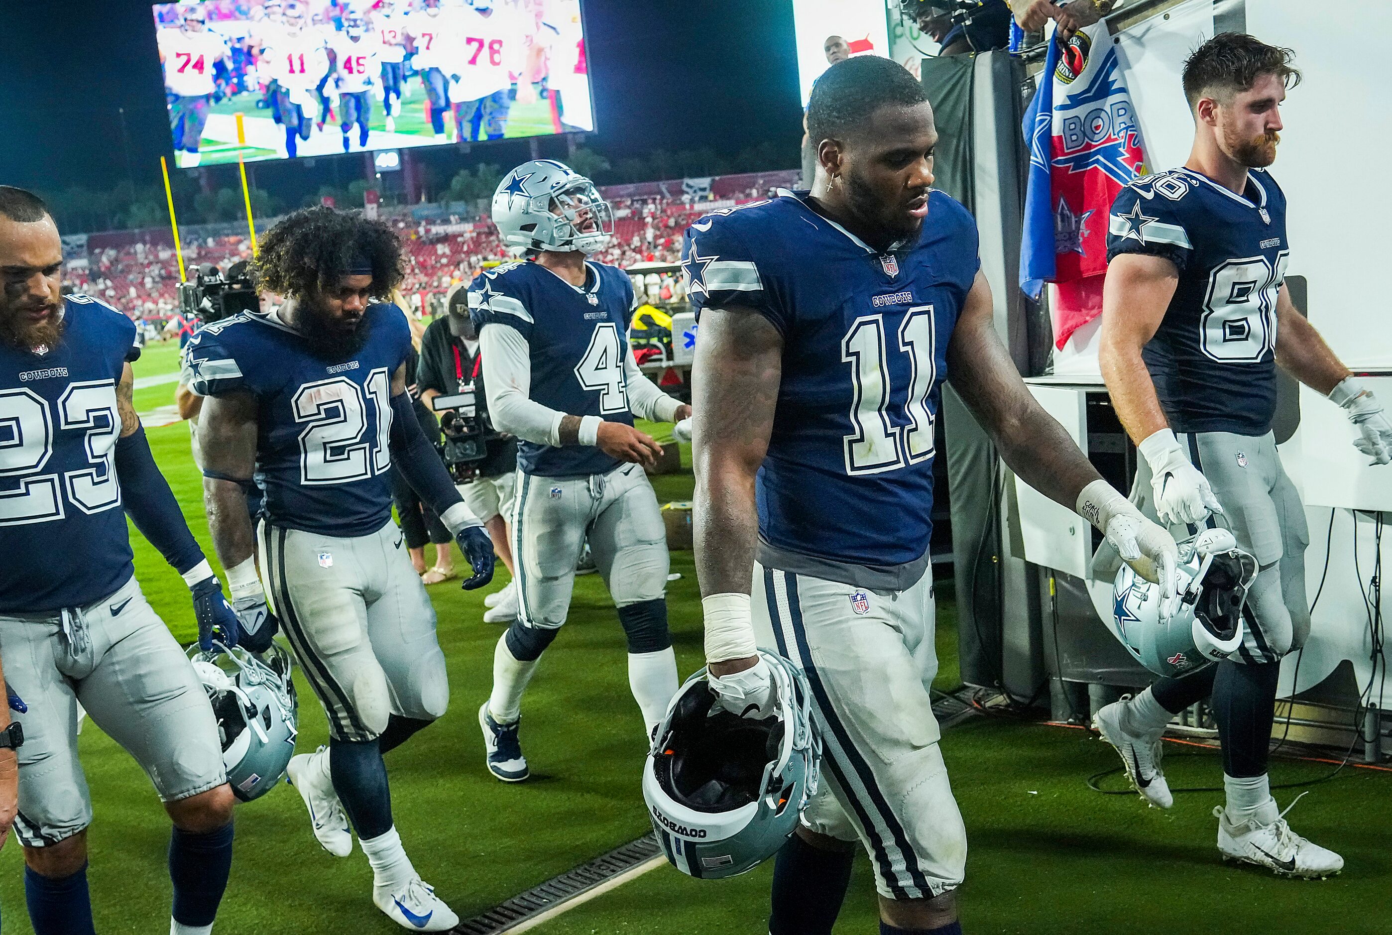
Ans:
POLYGON ((1343 860, 1290 832, 1267 779, 1281 657, 1310 632, 1304 506, 1271 431, 1276 367, 1343 406, 1374 463, 1392 461, 1392 424, 1283 284, 1286 199, 1265 167, 1276 157, 1281 102, 1300 77, 1290 56, 1231 32, 1200 46, 1183 72, 1189 160, 1136 179, 1112 205, 1098 356, 1144 455, 1141 506, 1182 537, 1229 529, 1260 572, 1235 657, 1104 707, 1097 726, 1137 790, 1168 808, 1161 733, 1212 693, 1226 789, 1218 849, 1278 874, 1324 877, 1343 860))

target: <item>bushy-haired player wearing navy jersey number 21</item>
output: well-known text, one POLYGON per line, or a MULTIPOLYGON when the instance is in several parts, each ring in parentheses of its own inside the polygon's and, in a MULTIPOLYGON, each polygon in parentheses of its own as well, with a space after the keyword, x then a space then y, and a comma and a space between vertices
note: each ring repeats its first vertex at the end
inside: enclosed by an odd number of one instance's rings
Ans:
POLYGON ((352 829, 373 868, 373 902, 405 928, 458 916, 422 882, 391 821, 383 754, 450 700, 436 615, 391 522, 390 469, 493 576, 493 545, 420 430, 405 385, 411 331, 377 296, 401 281, 386 224, 329 207, 267 232, 253 275, 287 296, 269 314, 205 326, 189 342, 213 541, 241 614, 273 614, 329 715, 329 747, 290 761, 315 836, 338 857, 352 829), (264 474, 258 530, 244 488, 264 474), (256 557, 266 583, 258 579, 256 557), (347 821, 345 821, 347 813, 347 821))

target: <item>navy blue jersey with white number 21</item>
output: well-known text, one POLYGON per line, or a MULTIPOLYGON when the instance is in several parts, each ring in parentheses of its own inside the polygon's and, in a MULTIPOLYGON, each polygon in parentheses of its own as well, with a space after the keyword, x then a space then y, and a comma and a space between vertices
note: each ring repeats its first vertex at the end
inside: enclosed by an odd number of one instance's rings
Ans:
POLYGON ((369 305, 367 339, 331 362, 278 317, 234 316, 198 330, 188 351, 193 392, 256 397, 256 466, 266 519, 323 536, 367 536, 391 519, 391 376, 411 352, 394 305, 369 305))

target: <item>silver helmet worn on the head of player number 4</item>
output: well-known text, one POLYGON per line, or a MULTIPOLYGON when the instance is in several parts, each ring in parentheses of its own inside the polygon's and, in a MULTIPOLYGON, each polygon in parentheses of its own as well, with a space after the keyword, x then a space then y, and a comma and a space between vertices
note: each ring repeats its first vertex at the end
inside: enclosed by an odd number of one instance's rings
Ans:
POLYGON ((614 209, 594 182, 554 159, 522 163, 493 193, 493 223, 515 256, 597 253, 614 238, 614 209))

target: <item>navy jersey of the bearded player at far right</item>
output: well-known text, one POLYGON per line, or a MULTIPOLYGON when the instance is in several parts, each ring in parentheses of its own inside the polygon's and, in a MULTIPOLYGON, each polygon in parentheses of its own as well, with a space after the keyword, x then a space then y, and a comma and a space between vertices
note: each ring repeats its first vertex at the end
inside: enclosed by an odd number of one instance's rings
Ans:
POLYGON ((1260 168, 1246 196, 1187 168, 1137 178, 1112 203, 1108 262, 1164 256, 1179 269, 1143 351, 1175 431, 1264 435, 1276 410, 1276 294, 1286 275, 1286 196, 1260 168))

